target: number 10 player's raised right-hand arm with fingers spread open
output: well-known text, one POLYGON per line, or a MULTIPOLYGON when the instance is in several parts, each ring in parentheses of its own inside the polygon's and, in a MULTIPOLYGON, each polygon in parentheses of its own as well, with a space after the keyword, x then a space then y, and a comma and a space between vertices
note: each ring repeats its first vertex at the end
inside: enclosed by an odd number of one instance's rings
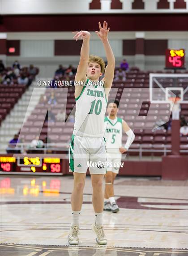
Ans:
POLYGON ((103 80, 105 81, 104 87, 111 89, 111 85, 114 79, 115 57, 108 41, 108 32, 110 31, 110 27, 108 28, 108 23, 106 21, 103 22, 103 27, 101 26, 100 22, 98 22, 98 25, 99 31, 95 32, 102 41, 107 56, 107 67, 105 69, 103 78, 103 80))

